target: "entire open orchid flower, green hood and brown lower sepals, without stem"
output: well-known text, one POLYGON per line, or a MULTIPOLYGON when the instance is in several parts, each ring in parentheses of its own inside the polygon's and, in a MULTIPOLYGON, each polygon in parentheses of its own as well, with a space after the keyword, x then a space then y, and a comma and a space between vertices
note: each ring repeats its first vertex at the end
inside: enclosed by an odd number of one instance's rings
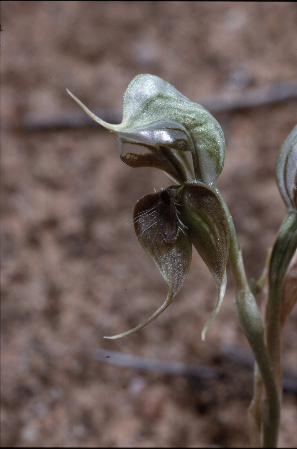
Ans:
POLYGON ((188 275, 193 244, 218 290, 214 312, 202 330, 204 339, 225 294, 230 245, 226 211, 214 184, 225 161, 220 125, 205 108, 154 75, 137 75, 131 81, 118 125, 101 120, 68 93, 92 119, 114 132, 123 162, 131 167, 159 168, 176 183, 145 195, 134 209, 137 238, 164 278, 167 298, 139 326, 105 338, 131 334, 165 310, 188 275), (193 170, 185 151, 192 154, 193 170), (188 179, 186 169, 194 179, 188 179))

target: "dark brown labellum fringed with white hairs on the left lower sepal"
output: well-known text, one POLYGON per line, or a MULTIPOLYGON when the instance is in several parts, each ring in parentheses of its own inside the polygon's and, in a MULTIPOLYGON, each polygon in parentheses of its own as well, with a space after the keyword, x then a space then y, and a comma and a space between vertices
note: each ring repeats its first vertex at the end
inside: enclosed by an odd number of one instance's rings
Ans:
POLYGON ((161 190, 157 204, 158 225, 165 242, 175 242, 179 232, 179 220, 175 207, 175 191, 161 190))

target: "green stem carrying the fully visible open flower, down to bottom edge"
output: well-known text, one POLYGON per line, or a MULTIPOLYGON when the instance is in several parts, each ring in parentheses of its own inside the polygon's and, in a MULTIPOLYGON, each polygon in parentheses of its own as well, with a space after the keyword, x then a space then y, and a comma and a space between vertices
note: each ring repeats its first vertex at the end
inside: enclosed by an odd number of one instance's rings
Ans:
POLYGON ((266 411, 264 404, 262 410, 262 422, 264 427, 263 445, 264 447, 276 447, 280 424, 280 401, 275 377, 271 369, 270 359, 268 357, 265 344, 264 326, 256 300, 249 289, 231 214, 218 189, 216 190, 226 211, 230 229, 229 261, 236 280, 235 305, 237 317, 239 319, 240 326, 243 329, 253 350, 255 360, 266 388, 268 410, 266 411))

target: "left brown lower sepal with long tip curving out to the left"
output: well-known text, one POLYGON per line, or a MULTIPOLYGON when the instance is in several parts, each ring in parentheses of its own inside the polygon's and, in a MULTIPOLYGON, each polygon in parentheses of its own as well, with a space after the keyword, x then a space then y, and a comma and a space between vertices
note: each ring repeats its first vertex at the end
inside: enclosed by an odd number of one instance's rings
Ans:
POLYGON ((162 274, 168 295, 164 304, 139 326, 105 338, 131 334, 160 315, 183 285, 192 260, 192 243, 180 228, 174 189, 163 189, 141 198, 135 205, 134 220, 136 235, 162 274))

